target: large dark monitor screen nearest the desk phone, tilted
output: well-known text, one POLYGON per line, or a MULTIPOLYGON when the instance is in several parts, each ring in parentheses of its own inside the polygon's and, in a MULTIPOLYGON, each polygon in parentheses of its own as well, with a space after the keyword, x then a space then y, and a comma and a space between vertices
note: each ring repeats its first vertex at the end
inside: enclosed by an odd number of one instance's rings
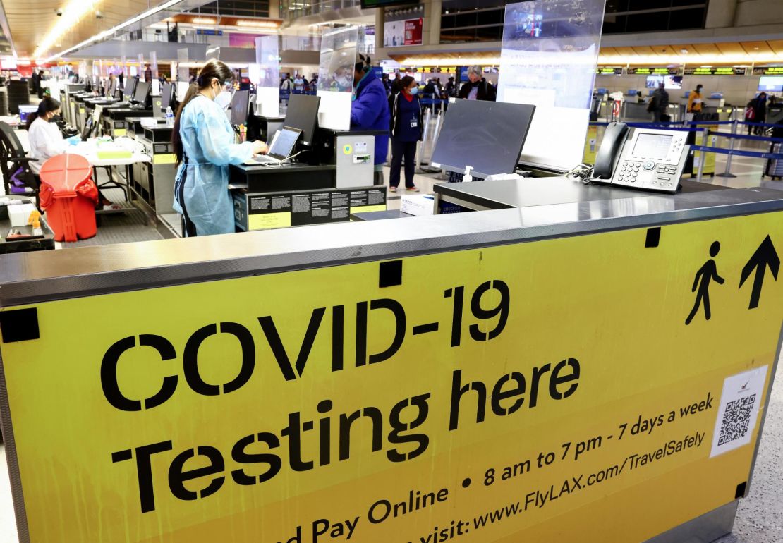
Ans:
POLYGON ((449 106, 431 162, 479 177, 511 174, 517 167, 536 106, 457 100, 449 106))

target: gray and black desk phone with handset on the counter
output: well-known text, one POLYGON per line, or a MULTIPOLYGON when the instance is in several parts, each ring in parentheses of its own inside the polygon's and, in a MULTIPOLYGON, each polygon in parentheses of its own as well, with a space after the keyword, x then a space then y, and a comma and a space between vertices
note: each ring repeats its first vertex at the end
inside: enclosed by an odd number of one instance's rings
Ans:
POLYGON ((690 146, 687 132, 636 128, 626 139, 622 123, 607 127, 596 157, 594 181, 659 192, 677 192, 690 146))

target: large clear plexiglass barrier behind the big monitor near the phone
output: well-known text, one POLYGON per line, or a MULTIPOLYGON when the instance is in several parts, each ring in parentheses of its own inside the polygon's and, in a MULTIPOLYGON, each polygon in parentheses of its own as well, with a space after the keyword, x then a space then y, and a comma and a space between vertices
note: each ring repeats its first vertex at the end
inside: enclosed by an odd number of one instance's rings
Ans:
POLYGON ((522 161, 582 161, 603 20, 604 0, 506 5, 497 99, 536 106, 522 161))

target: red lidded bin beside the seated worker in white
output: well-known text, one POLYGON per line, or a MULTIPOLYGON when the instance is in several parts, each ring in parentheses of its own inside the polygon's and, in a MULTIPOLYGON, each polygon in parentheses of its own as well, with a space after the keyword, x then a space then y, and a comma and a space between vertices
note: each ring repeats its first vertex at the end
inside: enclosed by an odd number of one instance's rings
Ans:
POLYGON ((98 188, 92 167, 81 155, 52 156, 41 166, 41 209, 57 241, 96 235, 98 188))

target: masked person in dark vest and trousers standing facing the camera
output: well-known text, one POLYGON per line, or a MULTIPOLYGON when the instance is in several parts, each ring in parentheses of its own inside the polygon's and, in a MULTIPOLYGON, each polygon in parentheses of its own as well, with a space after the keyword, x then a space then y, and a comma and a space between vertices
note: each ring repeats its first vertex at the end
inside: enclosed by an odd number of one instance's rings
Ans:
POLYGON ((424 122, 421 116, 419 87, 413 77, 402 77, 402 91, 389 97, 391 111, 391 168, 389 172, 389 191, 397 192, 399 187, 402 159, 405 158, 405 188, 419 192, 413 185, 416 171, 416 147, 422 136, 424 122))

